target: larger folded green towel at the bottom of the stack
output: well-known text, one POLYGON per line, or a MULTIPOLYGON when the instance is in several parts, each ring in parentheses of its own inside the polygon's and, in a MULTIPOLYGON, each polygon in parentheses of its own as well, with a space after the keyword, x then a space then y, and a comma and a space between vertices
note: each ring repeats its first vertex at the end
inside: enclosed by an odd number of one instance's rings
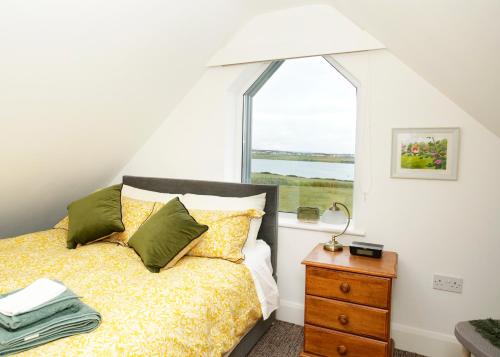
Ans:
POLYGON ((75 307, 58 311, 15 331, 0 327, 0 356, 26 351, 63 337, 90 332, 100 323, 101 315, 78 300, 75 307))

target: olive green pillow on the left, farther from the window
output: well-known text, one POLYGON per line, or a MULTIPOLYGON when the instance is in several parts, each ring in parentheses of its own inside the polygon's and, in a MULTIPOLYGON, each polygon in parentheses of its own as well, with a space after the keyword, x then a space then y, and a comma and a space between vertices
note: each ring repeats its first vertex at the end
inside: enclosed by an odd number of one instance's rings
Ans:
POLYGON ((66 241, 69 249, 125 230, 122 222, 121 192, 122 185, 114 185, 69 204, 66 241))

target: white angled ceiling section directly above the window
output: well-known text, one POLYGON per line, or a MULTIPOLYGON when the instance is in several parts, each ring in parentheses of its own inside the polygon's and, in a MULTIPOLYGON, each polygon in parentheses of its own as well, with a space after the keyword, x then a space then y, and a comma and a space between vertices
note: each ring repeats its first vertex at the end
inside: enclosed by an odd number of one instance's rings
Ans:
POLYGON ((311 4, 256 15, 244 24, 209 66, 384 48, 333 6, 311 4))

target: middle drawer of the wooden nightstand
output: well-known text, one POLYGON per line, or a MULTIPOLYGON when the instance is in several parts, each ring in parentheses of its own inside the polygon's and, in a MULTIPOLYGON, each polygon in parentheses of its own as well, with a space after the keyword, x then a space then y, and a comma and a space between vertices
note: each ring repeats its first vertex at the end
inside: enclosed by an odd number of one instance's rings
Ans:
POLYGON ((389 312, 374 307, 306 295, 305 323, 383 340, 389 338, 389 312))

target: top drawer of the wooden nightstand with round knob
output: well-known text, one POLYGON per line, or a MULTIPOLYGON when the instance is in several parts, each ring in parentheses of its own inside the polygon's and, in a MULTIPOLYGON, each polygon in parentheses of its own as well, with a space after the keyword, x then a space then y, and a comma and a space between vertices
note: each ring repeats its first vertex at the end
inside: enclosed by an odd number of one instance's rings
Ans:
POLYGON ((308 266, 306 294, 388 308, 391 279, 308 266))

